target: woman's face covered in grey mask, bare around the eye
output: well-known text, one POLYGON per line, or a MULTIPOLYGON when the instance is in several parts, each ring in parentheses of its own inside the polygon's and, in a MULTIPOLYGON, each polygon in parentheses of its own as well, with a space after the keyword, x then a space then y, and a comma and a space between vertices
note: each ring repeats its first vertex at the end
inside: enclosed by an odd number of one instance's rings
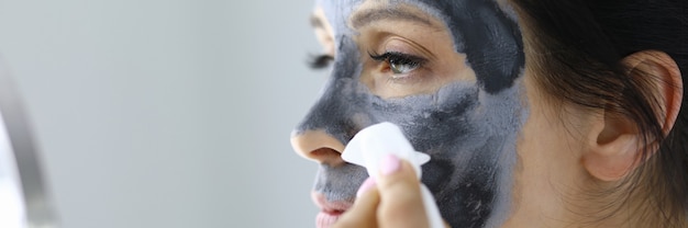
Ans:
POLYGON ((431 156, 422 181, 452 226, 502 224, 531 113, 511 9, 485 0, 322 0, 313 25, 334 62, 292 145, 320 162, 319 226, 346 210, 367 178, 340 152, 380 122, 401 126, 431 156))

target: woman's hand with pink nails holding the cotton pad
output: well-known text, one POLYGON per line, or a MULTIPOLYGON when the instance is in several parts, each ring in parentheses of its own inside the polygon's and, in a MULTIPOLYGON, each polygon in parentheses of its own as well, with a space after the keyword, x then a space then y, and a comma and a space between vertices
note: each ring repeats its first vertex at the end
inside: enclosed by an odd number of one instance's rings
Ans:
POLYGON ((380 174, 362 184, 354 206, 333 227, 429 227, 420 186, 411 164, 390 155, 382 161, 380 174))

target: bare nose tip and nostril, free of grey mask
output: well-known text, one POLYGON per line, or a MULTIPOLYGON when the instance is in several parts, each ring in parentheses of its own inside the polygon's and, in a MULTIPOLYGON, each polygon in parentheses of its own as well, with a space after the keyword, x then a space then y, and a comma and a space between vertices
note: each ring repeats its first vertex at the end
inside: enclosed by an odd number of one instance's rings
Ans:
POLYGON ((322 129, 293 132, 291 147, 299 156, 330 167, 345 163, 341 157, 344 145, 322 129))

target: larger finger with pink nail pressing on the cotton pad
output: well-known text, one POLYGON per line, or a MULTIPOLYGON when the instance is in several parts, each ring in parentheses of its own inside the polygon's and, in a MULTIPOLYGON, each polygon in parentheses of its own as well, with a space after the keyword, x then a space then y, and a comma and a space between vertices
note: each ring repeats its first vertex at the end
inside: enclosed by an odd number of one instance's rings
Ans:
POLYGON ((380 227, 429 227, 420 182, 407 161, 387 156, 380 166, 377 189, 380 194, 380 227))

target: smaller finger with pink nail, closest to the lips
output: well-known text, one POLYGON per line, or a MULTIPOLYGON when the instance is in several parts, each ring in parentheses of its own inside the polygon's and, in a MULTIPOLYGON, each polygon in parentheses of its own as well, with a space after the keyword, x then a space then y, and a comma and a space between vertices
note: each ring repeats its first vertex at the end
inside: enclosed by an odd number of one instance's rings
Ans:
POLYGON ((380 202, 380 196, 375 186, 375 181, 368 178, 363 184, 351 209, 346 210, 332 226, 333 228, 375 228, 377 221, 375 214, 380 202))

